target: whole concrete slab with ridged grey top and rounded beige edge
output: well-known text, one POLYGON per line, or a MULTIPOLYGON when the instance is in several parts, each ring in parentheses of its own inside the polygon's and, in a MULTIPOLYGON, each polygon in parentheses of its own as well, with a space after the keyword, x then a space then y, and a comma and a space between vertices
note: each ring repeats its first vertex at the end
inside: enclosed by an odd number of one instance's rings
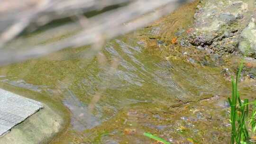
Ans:
POLYGON ((0 144, 48 144, 63 123, 43 103, 0 89, 0 144))

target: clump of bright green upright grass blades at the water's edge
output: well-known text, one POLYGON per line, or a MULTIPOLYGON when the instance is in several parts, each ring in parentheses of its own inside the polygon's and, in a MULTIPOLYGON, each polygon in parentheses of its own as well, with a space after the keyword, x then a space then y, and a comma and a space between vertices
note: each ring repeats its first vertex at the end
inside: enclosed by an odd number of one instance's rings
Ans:
POLYGON ((248 99, 240 99, 238 81, 243 68, 241 63, 236 80, 232 77, 232 97, 228 98, 231 112, 231 139, 230 144, 253 144, 253 135, 256 132, 256 102, 249 103, 248 99), (253 110, 249 116, 249 105, 253 104, 253 110), (250 133, 249 131, 250 130, 250 133))

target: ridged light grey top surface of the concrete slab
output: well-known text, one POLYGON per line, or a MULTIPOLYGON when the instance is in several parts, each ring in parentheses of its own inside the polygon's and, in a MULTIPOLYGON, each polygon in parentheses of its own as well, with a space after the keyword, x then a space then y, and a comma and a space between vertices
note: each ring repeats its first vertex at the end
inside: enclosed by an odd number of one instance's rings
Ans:
POLYGON ((0 89, 0 135, 43 108, 42 103, 0 89))

